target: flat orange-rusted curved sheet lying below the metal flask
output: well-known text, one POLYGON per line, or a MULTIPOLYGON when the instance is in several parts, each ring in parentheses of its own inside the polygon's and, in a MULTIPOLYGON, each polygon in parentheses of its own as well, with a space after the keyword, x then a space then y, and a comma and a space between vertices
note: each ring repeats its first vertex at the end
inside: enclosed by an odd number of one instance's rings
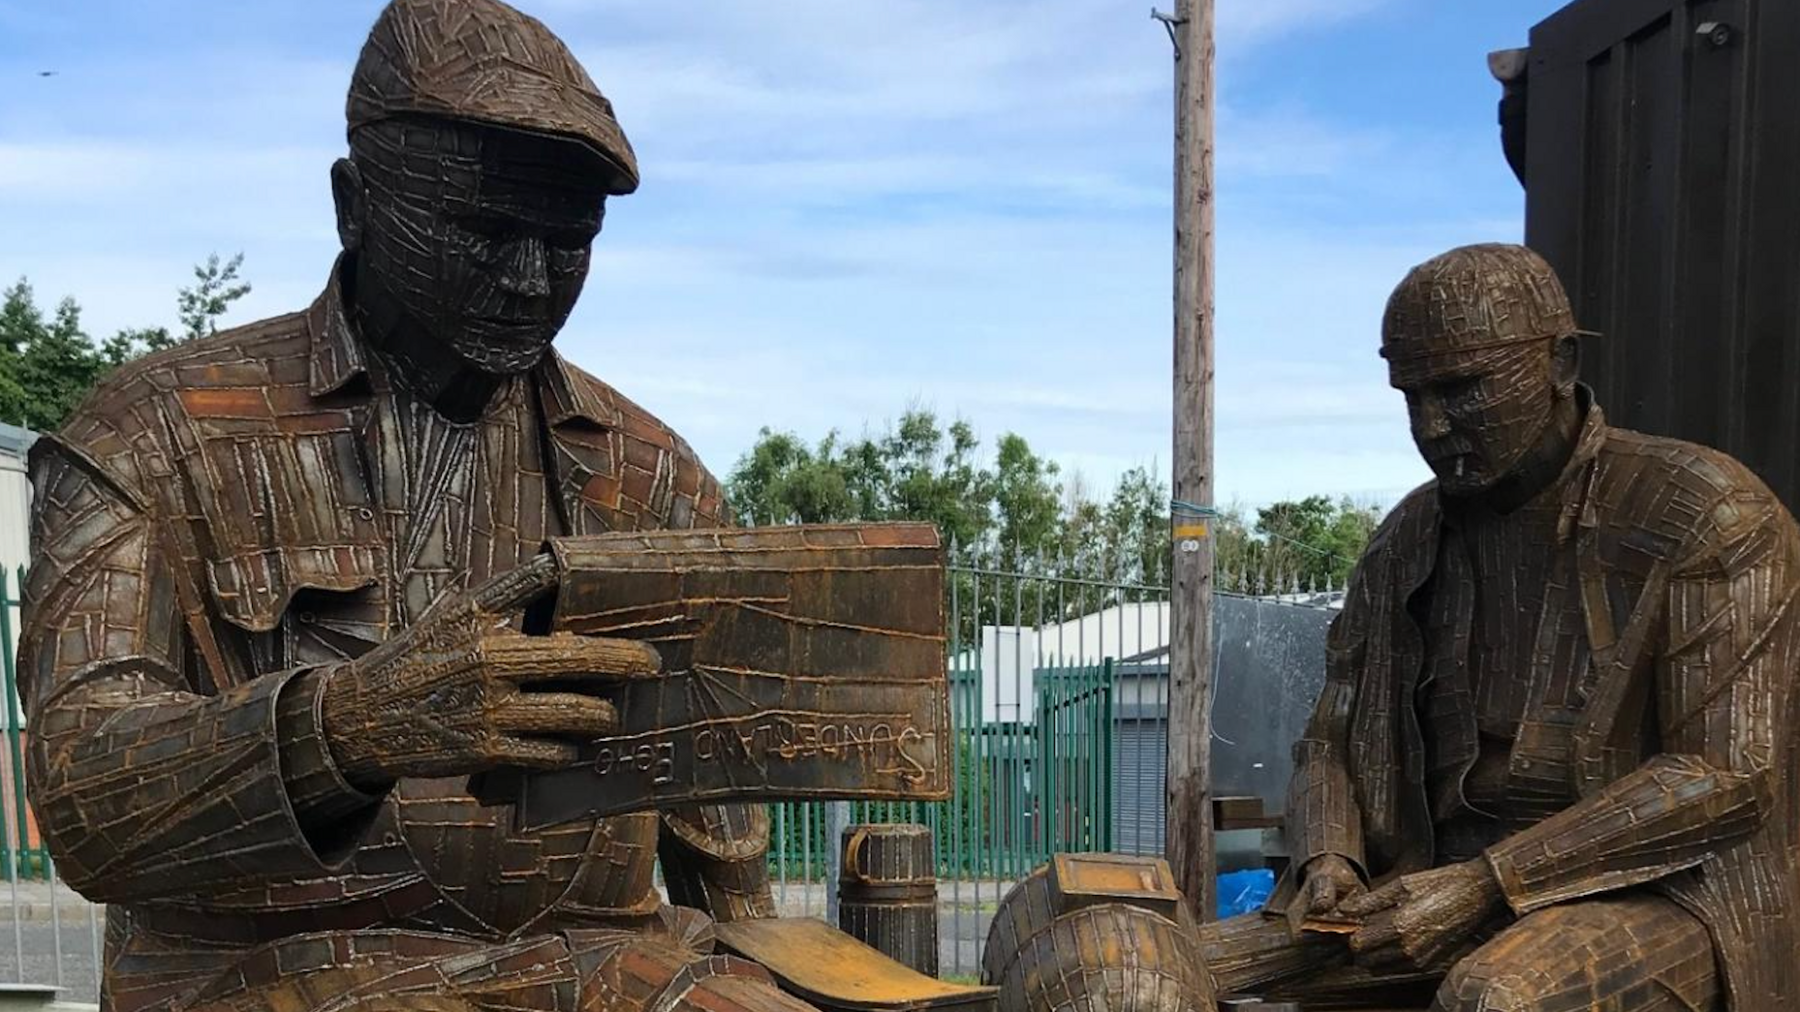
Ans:
POLYGON ((823 920, 720 924, 718 942, 826 1012, 995 1010, 995 989, 929 978, 823 920))

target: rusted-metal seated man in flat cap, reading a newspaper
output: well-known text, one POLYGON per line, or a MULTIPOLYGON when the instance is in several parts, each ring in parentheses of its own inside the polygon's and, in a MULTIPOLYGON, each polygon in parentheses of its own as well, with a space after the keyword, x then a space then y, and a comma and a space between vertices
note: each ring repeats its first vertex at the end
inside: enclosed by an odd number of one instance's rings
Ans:
POLYGON ((31 798, 110 904, 103 1008, 805 1010, 695 913, 774 915, 760 807, 520 832, 468 791, 655 670, 506 627, 545 538, 722 515, 551 349, 637 185, 612 106, 511 7, 396 0, 347 115, 311 308, 119 369, 34 450, 31 798))

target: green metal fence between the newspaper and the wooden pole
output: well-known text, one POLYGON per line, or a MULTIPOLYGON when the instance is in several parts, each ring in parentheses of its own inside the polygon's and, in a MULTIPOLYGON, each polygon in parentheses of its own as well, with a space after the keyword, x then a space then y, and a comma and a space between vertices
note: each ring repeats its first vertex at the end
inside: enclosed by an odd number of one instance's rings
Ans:
MULTIPOLYGON (((940 967, 970 974, 1012 882, 1060 852, 1143 850, 1143 839, 1116 836, 1121 825, 1141 830, 1145 798, 1163 792, 1163 736, 1145 731, 1165 718, 1166 691, 1147 686, 1143 672, 1163 670, 1168 589, 1026 569, 949 571, 956 776, 947 801, 770 807, 783 913, 828 917, 841 827, 925 825, 936 846, 940 967), (1121 733, 1136 747, 1121 749, 1121 733)), ((1161 805, 1154 819, 1159 828, 1161 805)))

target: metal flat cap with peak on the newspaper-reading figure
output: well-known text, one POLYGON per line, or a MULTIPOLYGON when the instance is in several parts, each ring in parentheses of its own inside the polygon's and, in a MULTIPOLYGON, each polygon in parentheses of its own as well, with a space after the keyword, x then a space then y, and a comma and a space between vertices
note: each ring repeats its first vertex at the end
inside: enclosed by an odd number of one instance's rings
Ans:
POLYGON ((392 0, 369 29, 346 103, 349 131, 423 115, 578 140, 637 189, 637 155, 587 70, 542 22, 499 0, 392 0))

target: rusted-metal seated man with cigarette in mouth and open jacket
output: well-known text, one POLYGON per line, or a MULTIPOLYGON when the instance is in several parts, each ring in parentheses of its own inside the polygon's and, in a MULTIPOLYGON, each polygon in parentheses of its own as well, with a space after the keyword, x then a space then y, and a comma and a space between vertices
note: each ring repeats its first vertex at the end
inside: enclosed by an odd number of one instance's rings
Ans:
POLYGON ((1451 250, 1388 303, 1436 481, 1332 625, 1291 917, 1202 929, 1222 994, 1800 1007, 1800 531, 1724 454, 1607 427, 1577 340, 1521 247, 1451 250))

